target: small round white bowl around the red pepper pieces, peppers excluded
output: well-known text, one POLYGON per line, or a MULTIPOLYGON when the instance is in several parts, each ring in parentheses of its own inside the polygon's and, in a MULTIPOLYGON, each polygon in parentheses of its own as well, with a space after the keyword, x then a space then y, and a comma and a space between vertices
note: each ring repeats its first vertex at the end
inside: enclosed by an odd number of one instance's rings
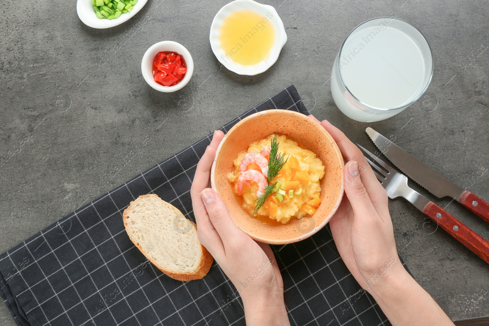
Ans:
MULTIPOLYGON (((139 2, 138 2, 139 3, 139 2)), ((137 3, 136 3, 137 4, 137 3)), ((192 56, 190 52, 180 43, 173 41, 162 41, 156 44, 153 44, 146 53, 144 53, 143 60, 141 61, 141 72, 143 74, 144 80, 148 83, 149 86, 159 90, 160 92, 170 93, 177 91, 183 88, 188 84, 190 78, 192 78, 192 74, 194 73, 194 61, 192 60, 192 56), (185 77, 174 86, 163 86, 155 82, 153 79, 153 60, 158 54, 159 51, 173 51, 178 53, 185 60, 185 65, 187 65, 187 72, 185 73, 185 77)))

